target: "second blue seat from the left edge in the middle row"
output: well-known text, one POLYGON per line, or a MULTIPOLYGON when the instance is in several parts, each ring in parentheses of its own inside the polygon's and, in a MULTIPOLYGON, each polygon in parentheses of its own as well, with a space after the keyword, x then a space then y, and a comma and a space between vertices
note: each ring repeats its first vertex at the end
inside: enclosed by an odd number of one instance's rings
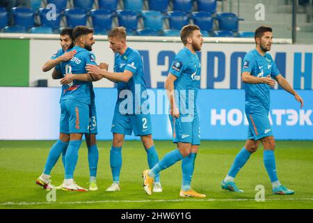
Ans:
POLYGON ((23 26, 29 29, 34 26, 35 13, 30 8, 12 8, 11 10, 15 26, 23 26))

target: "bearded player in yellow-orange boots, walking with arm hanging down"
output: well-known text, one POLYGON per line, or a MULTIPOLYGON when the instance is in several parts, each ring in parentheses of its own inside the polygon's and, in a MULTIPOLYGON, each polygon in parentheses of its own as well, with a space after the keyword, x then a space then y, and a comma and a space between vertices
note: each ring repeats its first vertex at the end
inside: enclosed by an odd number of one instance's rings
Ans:
POLYGON ((184 48, 175 56, 166 79, 173 142, 177 144, 177 149, 167 153, 152 169, 143 171, 143 185, 145 192, 151 195, 154 177, 182 160, 182 189, 179 196, 206 197, 191 189, 195 157, 200 145, 200 123, 195 103, 200 87, 201 66, 196 52, 201 50, 203 38, 200 28, 193 24, 182 28, 180 38, 184 48))

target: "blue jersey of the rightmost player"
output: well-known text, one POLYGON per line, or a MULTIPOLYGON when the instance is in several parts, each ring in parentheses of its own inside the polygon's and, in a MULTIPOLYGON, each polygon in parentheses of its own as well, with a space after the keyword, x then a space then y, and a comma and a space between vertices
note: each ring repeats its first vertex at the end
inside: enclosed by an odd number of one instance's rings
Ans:
MULTIPOLYGON (((276 77, 280 74, 270 54, 262 56, 253 49, 243 59, 241 73, 250 72, 255 77, 276 77)), ((268 84, 245 83, 246 113, 268 113, 270 107, 270 86, 268 84)))

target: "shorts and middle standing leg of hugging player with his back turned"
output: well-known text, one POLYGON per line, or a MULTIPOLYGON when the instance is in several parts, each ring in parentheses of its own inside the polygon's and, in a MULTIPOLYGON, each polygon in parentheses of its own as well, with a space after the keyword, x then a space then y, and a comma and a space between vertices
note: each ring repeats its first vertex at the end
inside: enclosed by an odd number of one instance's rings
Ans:
POLYGON ((65 154, 65 180, 63 190, 87 191, 74 182, 74 170, 76 168, 79 148, 83 134, 88 133, 89 106, 74 100, 65 100, 67 111, 70 114, 70 144, 65 154))

